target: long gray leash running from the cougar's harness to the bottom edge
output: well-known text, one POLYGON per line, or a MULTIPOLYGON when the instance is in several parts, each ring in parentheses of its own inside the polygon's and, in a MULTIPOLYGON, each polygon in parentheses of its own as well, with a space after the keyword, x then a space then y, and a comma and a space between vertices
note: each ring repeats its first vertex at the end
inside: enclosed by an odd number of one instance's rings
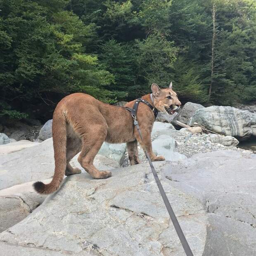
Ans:
MULTIPOLYGON (((134 116, 134 126, 137 128, 137 131, 138 131, 138 133, 139 133, 139 135, 140 135, 140 138, 141 138, 141 140, 142 140, 142 142, 143 142, 142 134, 141 134, 141 131, 140 131, 140 126, 139 126, 138 121, 136 120, 136 116, 134 116)), ((171 217, 171 220, 172 220, 172 222, 173 222, 173 226, 174 226, 174 228, 175 228, 175 230, 176 230, 176 232, 177 232, 177 234, 178 234, 178 237, 179 237, 180 242, 181 242, 181 244, 182 244, 182 246, 183 246, 183 249, 184 249, 184 251, 185 251, 185 254, 186 254, 187 256, 193 256, 192 251, 191 251, 191 249, 190 249, 190 246, 189 246, 189 244, 187 243, 186 237, 185 237, 185 235, 183 234, 182 229, 180 228, 180 224, 178 223, 178 220, 177 220, 177 218, 176 218, 176 216, 175 216, 175 213, 173 212, 173 209, 172 209, 172 207, 171 207, 171 204, 170 204, 170 202, 169 202, 169 200, 168 200, 168 197, 166 196, 166 193, 164 192, 164 188, 163 188, 163 186, 162 186, 162 184, 161 184, 161 182, 160 182, 160 180, 159 180, 159 178, 158 178, 158 175, 157 175, 157 173, 156 173, 156 170, 155 170, 155 168, 154 168, 154 166, 153 166, 153 164, 152 164, 152 161, 151 161, 151 159, 150 159, 150 157, 149 157, 149 155, 148 155, 146 149, 145 149, 145 154, 146 154, 146 156, 147 156, 147 160, 149 161, 149 165, 150 165, 150 167, 151 167, 152 173, 153 173, 154 178, 155 178, 155 180, 156 180, 156 184, 157 184, 157 186, 158 186, 158 188, 159 188, 159 191, 160 191, 160 194, 161 194, 161 196, 162 196, 162 198, 163 198, 163 200, 164 200, 164 204, 165 204, 166 209, 167 209, 167 211, 168 211, 168 213, 169 213, 169 215, 170 215, 170 217, 171 217)))

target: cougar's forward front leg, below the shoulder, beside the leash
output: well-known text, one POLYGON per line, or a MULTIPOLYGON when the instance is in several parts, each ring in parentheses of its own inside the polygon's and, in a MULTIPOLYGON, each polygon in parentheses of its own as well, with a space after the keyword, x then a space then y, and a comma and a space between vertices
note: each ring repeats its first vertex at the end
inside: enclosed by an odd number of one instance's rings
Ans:
POLYGON ((146 149, 151 161, 164 161, 165 160, 164 156, 156 156, 152 151, 151 130, 149 130, 147 128, 143 128, 143 127, 140 128, 140 130, 142 133, 143 142, 140 138, 137 128, 135 128, 135 138, 140 143, 144 152, 146 149))

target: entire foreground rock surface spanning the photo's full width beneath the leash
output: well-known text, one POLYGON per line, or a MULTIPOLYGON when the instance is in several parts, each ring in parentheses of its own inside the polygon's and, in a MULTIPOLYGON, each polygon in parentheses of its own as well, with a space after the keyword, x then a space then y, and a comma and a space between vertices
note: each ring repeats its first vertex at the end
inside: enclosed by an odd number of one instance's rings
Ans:
MULTIPOLYGON (((195 256, 254 255, 256 157, 220 151, 154 162, 195 256)), ((6 255, 184 255, 148 164, 69 176, 0 234, 6 255)))

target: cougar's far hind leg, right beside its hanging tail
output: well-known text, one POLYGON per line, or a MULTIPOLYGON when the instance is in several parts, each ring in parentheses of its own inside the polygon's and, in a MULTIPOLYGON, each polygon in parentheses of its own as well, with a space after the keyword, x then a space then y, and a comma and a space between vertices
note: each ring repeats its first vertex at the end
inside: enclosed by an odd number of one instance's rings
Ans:
POLYGON ((65 175, 81 173, 79 168, 73 168, 69 161, 81 150, 81 140, 78 137, 69 137, 66 142, 66 171, 65 175))

